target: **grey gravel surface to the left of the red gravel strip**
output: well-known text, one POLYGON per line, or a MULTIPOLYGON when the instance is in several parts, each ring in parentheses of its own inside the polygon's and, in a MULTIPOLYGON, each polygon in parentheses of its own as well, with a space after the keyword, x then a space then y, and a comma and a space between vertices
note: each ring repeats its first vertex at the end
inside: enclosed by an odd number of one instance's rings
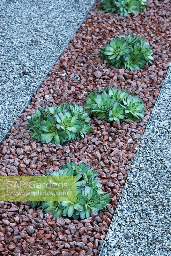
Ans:
POLYGON ((0 1, 0 140, 94 2, 0 1))

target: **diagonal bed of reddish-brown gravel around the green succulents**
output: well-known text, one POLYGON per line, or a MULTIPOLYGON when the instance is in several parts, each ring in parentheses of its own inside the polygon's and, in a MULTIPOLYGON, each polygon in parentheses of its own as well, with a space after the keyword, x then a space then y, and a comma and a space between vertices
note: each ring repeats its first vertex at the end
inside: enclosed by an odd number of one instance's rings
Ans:
POLYGON ((41 210, 31 209, 28 202, 1 202, 0 255, 99 254, 139 139, 167 73, 171 55, 169 2, 148 1, 144 12, 127 18, 94 7, 32 103, 15 120, 14 128, 0 148, 0 175, 43 175, 66 161, 91 164, 100 173, 105 191, 112 194, 107 212, 80 221, 56 219, 50 213, 47 216, 41 210), (99 58, 99 47, 115 35, 131 32, 149 41, 154 52, 153 65, 134 72, 108 67, 99 58), (141 123, 126 120, 122 124, 110 124, 93 118, 95 132, 63 146, 42 145, 30 137, 27 119, 35 108, 66 100, 83 105, 86 92, 108 85, 131 90, 144 100, 146 114, 141 123))

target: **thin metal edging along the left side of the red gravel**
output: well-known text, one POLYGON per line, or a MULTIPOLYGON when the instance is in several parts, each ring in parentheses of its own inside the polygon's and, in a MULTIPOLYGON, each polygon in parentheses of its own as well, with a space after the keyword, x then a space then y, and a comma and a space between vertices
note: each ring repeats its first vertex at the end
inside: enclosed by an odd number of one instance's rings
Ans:
MULTIPOLYGON (((48 72, 46 73, 46 75, 43 77, 43 79, 41 80, 41 82, 39 83, 39 85, 37 86, 37 88, 34 90, 34 92, 31 94, 29 100, 26 102, 26 104, 24 105, 24 107, 22 108, 22 110, 20 111, 20 113, 18 114, 18 116, 14 119, 18 119, 19 116, 24 112, 25 108, 31 103, 32 101, 32 97, 34 96, 34 93, 36 93, 39 88, 41 87, 41 84, 43 83, 44 79, 46 79, 46 77, 48 76, 49 72, 51 71, 51 69, 53 68, 53 66, 55 65, 55 63, 60 59, 62 53, 64 52, 65 48, 67 47, 68 44, 70 44, 71 39, 75 36, 75 34, 77 33, 78 29, 81 27, 81 25, 83 24, 83 22, 85 21, 87 15, 89 14, 89 12, 91 11, 91 9, 94 7, 94 5, 96 4, 97 0, 94 1, 94 3, 90 6, 90 8, 88 9, 88 11, 86 12, 85 16, 83 17, 83 19, 81 20, 81 22, 79 23, 78 27, 74 30, 72 36, 70 37, 70 39, 68 40, 68 42, 65 44, 65 46, 63 47, 62 51, 59 53, 57 59, 53 62, 52 66, 49 68, 48 72)), ((0 140, 0 146, 2 144, 2 142, 6 139, 7 135, 10 133, 12 127, 14 126, 14 122, 13 124, 11 124, 10 128, 7 130, 7 132, 5 133, 4 137, 0 140)))

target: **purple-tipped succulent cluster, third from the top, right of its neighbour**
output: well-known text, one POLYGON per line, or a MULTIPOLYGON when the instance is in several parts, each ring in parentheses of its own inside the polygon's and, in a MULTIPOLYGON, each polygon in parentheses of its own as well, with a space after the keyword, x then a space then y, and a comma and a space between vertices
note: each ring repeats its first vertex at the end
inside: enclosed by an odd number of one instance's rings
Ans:
POLYGON ((90 116, 109 122, 141 121, 145 113, 143 101, 135 94, 111 87, 89 93, 84 107, 90 116))

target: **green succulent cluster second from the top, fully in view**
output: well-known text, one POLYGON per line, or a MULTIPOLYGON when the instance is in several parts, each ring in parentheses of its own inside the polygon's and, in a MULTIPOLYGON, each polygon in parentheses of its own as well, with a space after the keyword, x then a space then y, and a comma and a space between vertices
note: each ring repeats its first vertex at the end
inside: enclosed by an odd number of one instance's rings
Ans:
POLYGON ((100 58, 109 65, 130 70, 141 69, 152 64, 152 49, 145 38, 135 35, 116 36, 100 48, 100 58))

